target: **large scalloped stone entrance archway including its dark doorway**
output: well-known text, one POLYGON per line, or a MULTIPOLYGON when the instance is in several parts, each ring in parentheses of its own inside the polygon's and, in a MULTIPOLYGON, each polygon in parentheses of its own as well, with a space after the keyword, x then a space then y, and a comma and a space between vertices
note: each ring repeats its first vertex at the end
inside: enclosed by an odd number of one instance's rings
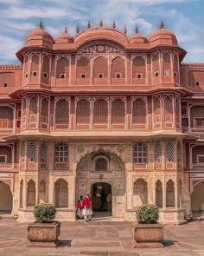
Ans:
POLYGON ((88 191, 92 194, 93 213, 124 218, 124 163, 116 154, 103 150, 86 154, 80 160, 76 174, 76 201, 88 191))

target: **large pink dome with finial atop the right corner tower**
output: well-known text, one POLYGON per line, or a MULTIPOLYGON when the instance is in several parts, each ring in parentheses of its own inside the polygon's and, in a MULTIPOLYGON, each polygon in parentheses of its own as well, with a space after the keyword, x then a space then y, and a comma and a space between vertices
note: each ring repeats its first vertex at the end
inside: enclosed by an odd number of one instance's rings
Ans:
POLYGON ((163 27, 163 21, 160 24, 160 28, 154 31, 149 38, 150 46, 163 45, 175 45, 178 46, 175 34, 163 27))

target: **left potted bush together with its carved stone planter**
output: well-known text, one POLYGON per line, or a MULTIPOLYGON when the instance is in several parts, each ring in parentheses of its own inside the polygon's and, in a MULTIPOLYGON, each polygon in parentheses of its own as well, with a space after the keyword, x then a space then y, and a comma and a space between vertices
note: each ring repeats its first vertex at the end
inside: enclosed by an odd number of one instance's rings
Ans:
POLYGON ((61 223, 54 221, 56 209, 53 204, 35 205, 35 222, 28 226, 29 247, 56 247, 61 233, 61 223))

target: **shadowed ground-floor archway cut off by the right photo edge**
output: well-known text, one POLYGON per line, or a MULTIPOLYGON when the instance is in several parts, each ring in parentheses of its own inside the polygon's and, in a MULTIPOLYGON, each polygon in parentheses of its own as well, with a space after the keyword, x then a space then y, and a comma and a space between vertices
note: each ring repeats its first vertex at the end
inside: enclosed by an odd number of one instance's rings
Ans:
POLYGON ((194 191, 191 194, 191 211, 194 217, 204 213, 204 181, 194 185, 194 191))

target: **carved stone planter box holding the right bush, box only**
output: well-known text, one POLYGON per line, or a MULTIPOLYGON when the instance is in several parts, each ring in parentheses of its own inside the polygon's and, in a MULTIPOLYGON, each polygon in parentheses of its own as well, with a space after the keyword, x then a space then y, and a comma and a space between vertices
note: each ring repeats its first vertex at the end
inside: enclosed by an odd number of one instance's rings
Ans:
POLYGON ((131 228, 135 248, 163 247, 163 225, 133 223, 131 228))

